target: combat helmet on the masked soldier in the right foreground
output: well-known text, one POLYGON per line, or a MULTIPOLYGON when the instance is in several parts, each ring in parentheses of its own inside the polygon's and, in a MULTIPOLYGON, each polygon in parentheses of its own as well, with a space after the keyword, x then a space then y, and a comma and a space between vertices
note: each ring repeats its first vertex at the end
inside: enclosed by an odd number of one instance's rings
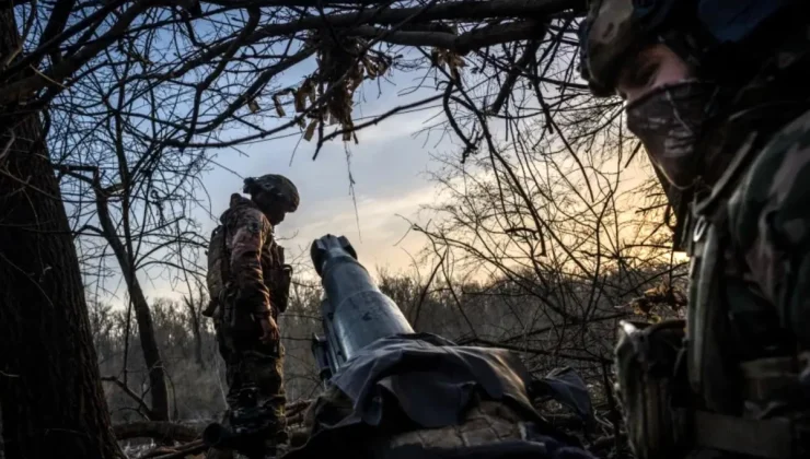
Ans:
MULTIPOLYGON (((760 68, 761 52, 771 52, 764 36, 774 35, 768 31, 779 33, 774 22, 789 16, 802 2, 589 0, 588 14, 579 27, 579 72, 593 96, 616 95, 616 81, 626 60, 648 45, 663 44, 697 79, 715 85, 711 106, 704 107, 704 122, 713 116, 721 118, 724 106, 760 68)), ((656 173, 670 203, 667 224, 674 233, 674 249, 681 250, 695 190, 673 186, 658 167, 656 173), (670 221, 672 216, 676 222, 670 221)))

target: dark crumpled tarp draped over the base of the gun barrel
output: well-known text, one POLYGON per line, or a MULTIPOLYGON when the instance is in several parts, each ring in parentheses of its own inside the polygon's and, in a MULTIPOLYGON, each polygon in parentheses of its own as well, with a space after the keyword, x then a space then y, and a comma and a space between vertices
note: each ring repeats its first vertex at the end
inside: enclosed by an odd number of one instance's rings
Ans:
MULTIPOLYGON (((565 372, 542 387, 546 395, 570 399, 560 402, 576 411, 589 412, 590 400, 581 400, 587 390, 585 385, 577 387, 577 380, 581 382, 572 372, 565 372)), ((343 400, 322 401, 305 449, 326 451, 326 445, 337 439, 343 444, 358 438, 371 442, 369 427, 386 431, 389 419, 404 417, 412 428, 454 425, 477 396, 508 403, 536 426, 539 435, 554 436, 560 445, 578 444, 556 432, 534 410, 529 395, 531 374, 516 353, 504 349, 458 346, 430 333, 387 337, 346 362, 331 384, 333 390, 327 392, 339 389, 343 400), (340 404, 342 409, 335 409, 340 404)), ((296 450, 287 455, 308 456, 296 450)))

